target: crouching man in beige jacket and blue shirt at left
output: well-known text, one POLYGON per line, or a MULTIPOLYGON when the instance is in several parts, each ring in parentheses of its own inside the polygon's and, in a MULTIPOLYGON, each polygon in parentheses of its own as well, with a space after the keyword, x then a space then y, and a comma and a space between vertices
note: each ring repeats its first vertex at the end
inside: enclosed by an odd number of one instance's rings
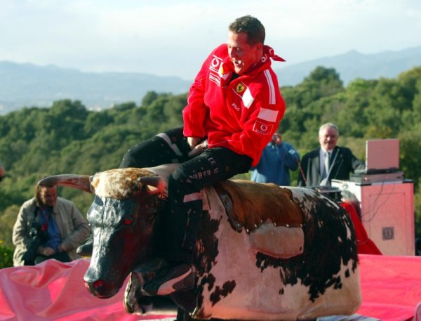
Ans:
POLYGON ((57 196, 55 186, 35 185, 34 197, 20 207, 13 226, 13 266, 33 266, 48 258, 69 262, 90 232, 74 203, 57 196))

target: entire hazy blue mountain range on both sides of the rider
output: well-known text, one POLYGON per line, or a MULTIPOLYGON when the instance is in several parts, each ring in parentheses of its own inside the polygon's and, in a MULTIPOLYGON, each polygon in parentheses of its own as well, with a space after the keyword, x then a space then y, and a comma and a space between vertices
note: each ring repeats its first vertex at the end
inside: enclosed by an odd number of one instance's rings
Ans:
MULTIPOLYGON (((274 63, 274 68, 279 64, 274 63)), ((403 51, 365 55, 349 51, 342 55, 309 60, 275 69, 280 86, 300 84, 317 66, 333 67, 347 85, 356 78, 394 78, 421 65, 421 46, 403 51)), ((121 72, 80 72, 79 70, 0 61, 0 114, 21 107, 48 107, 55 100, 81 100, 90 109, 116 103, 140 103, 147 91, 187 93, 192 81, 178 77, 121 72)))

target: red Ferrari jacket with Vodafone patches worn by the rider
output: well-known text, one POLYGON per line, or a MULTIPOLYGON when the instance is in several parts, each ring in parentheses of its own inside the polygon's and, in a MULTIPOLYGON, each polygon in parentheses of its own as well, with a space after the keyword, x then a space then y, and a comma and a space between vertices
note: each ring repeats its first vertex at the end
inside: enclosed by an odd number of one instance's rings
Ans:
POLYGON ((271 60, 283 60, 264 46, 262 61, 236 79, 227 44, 216 48, 190 87, 183 110, 184 135, 207 137, 208 148, 225 147, 258 164, 263 148, 278 129, 285 103, 271 60))

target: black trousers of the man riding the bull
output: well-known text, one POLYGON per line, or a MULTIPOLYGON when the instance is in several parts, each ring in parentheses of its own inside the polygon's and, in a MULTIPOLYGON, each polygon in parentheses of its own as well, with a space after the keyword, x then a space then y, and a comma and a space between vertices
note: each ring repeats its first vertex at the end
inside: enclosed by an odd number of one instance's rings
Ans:
POLYGON ((189 262, 200 228, 200 191, 237 173, 246 173, 252 159, 228 148, 211 148, 189 157, 191 148, 182 127, 160 133, 128 150, 120 164, 125 167, 152 167, 181 163, 168 178, 168 208, 164 223, 168 242, 166 256, 171 261, 189 262))

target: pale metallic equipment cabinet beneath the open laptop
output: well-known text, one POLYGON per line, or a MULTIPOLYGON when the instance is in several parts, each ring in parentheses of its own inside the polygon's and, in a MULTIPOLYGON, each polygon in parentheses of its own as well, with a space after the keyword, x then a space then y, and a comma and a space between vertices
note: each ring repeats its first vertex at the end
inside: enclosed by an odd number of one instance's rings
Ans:
POLYGON ((373 182, 333 180, 332 186, 359 201, 363 227, 382 254, 415 255, 413 181, 373 182))

